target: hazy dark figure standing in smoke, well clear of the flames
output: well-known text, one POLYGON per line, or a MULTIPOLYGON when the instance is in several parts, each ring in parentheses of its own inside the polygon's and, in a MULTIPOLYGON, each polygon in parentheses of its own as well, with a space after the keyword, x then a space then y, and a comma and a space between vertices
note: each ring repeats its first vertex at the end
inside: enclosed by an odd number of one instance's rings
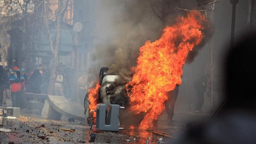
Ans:
POLYGON ((195 83, 195 89, 197 90, 195 112, 200 112, 204 104, 204 92, 206 92, 207 78, 207 75, 203 75, 195 83))

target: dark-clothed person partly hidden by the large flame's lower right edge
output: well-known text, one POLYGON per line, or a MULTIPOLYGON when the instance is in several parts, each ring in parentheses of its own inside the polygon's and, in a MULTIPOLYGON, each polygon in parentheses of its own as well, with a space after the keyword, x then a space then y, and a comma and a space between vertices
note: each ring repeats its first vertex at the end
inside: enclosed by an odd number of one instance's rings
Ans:
POLYGON ((167 119, 168 120, 173 120, 173 115, 174 115, 174 105, 178 97, 179 93, 179 85, 176 85, 174 90, 171 90, 168 92, 169 98, 168 100, 165 101, 165 109, 167 111, 167 119))

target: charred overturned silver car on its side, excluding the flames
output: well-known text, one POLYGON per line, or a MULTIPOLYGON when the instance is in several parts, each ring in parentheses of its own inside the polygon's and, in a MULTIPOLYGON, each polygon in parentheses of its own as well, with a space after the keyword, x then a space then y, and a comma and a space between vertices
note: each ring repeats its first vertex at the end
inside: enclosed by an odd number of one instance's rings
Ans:
MULTIPOLYGON (((124 109, 120 109, 119 122, 122 126, 138 126, 143 120, 145 113, 133 113, 129 111, 129 97, 126 90, 126 84, 132 80, 132 76, 108 73, 108 67, 100 68, 98 91, 98 102, 104 103, 106 107, 110 104, 118 104, 124 109)), ((84 99, 84 114, 89 124, 89 102, 87 93, 84 99)))

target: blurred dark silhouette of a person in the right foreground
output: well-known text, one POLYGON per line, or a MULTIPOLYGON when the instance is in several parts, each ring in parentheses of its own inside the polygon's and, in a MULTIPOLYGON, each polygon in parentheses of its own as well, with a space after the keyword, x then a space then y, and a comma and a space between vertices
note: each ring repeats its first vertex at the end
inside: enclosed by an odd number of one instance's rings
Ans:
POLYGON ((191 127, 182 144, 255 144, 256 35, 243 37, 226 57, 223 107, 206 125, 191 127))

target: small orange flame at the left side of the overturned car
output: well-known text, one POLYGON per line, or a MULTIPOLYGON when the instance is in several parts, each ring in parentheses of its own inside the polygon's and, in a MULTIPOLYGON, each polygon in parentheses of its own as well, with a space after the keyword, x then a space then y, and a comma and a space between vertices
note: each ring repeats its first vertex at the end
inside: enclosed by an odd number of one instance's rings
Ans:
MULTIPOLYGON (((92 110, 96 110, 97 109, 97 99, 98 99, 98 90, 100 89, 100 84, 97 83, 95 87, 91 88, 88 90, 89 96, 88 96, 88 100, 89 100, 89 110, 90 112, 92 110)), ((96 114, 93 113, 93 117, 96 117, 96 114)))

